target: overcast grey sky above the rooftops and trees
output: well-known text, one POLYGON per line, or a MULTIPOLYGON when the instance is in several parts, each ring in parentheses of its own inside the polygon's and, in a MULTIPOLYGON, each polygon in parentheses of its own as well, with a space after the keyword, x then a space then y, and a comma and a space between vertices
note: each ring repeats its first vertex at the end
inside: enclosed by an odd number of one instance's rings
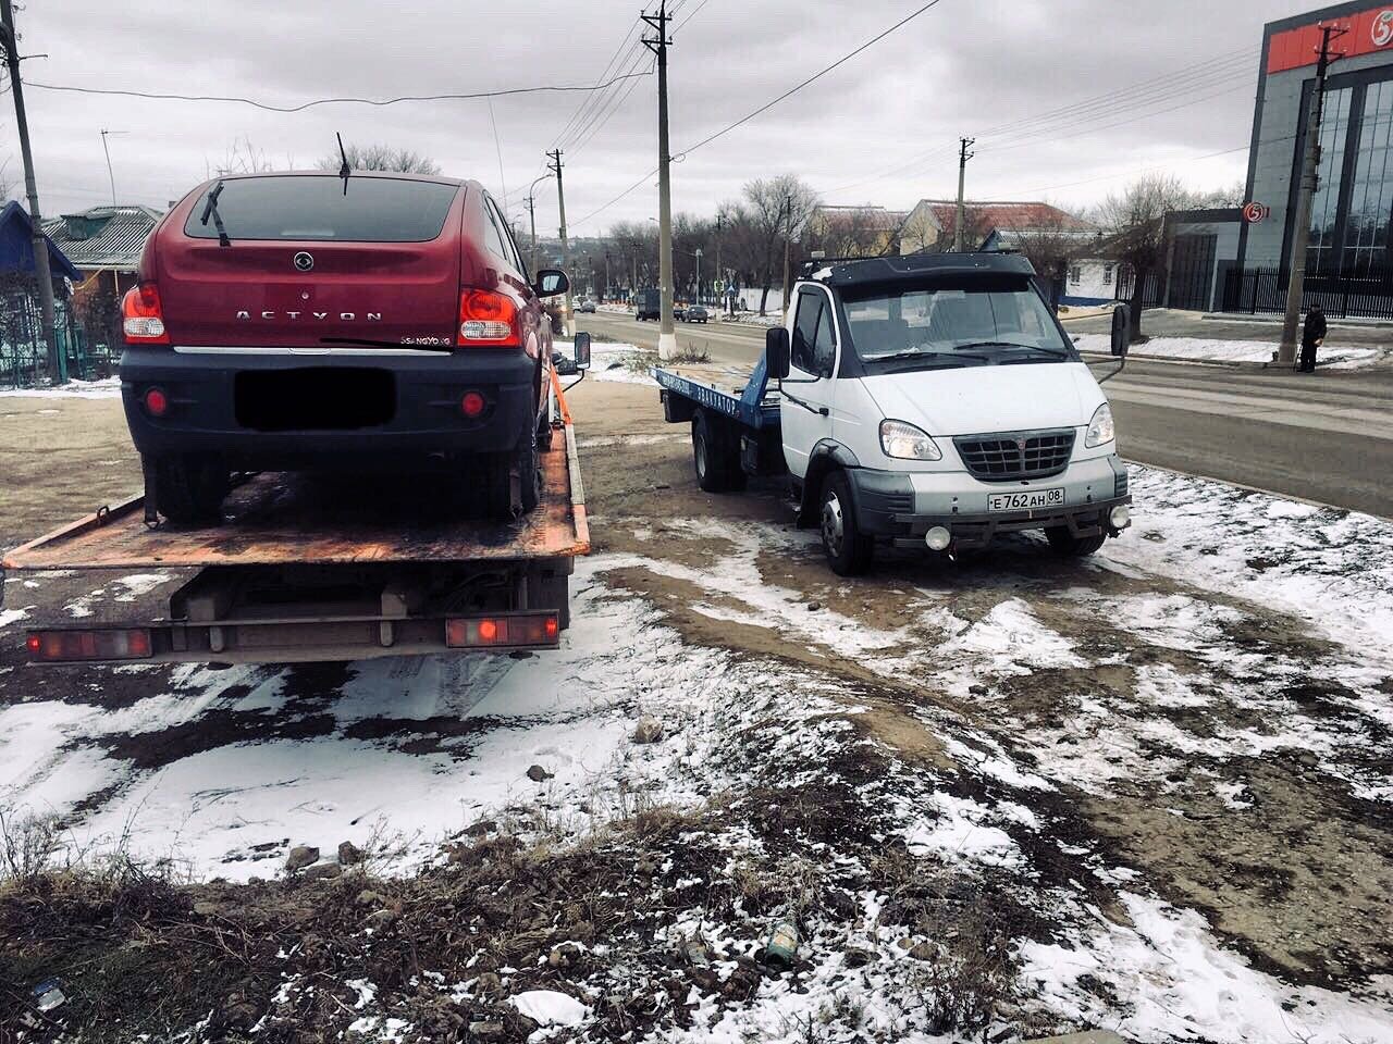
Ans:
MULTIPOLYGON (((674 156, 777 97, 925 0, 669 0, 674 156)), ((164 206, 228 163, 277 167, 347 141, 419 150, 476 177, 507 210, 566 150, 573 234, 657 213, 656 77, 603 92, 272 113, 38 85, 234 95, 274 106, 593 85, 646 72, 635 0, 21 0, 45 213, 110 200, 164 206), (493 125, 497 125, 497 142, 493 125), (120 134, 114 134, 114 132, 120 134), (501 149, 501 171, 500 171, 501 149), (638 184, 617 202, 616 196, 638 184)), ((862 54, 673 167, 676 210, 710 213, 756 175, 794 171, 830 203, 907 209, 957 188, 957 138, 978 138, 968 195, 1084 207, 1148 170, 1198 188, 1243 178, 1266 21, 1311 0, 940 0, 862 54)), ((13 102, 0 164, 20 181, 13 102)), ((539 232, 557 223, 538 185, 539 232)))

